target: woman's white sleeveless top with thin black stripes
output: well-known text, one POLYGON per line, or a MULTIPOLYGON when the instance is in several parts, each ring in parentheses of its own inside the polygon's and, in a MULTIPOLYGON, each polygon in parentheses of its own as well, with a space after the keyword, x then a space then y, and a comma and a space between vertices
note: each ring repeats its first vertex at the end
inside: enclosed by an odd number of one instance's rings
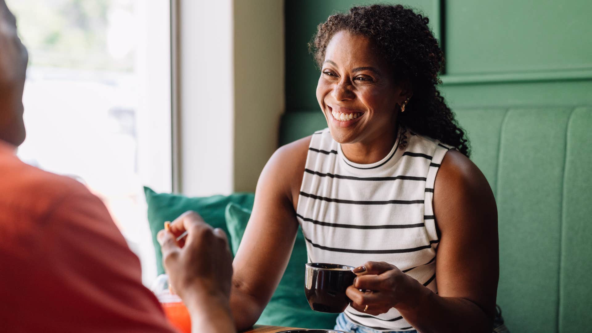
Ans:
MULTIPOLYGON (((329 129, 315 132, 296 210, 308 262, 356 267, 385 261, 437 292, 432 197, 436 172, 451 148, 400 129, 381 161, 356 164, 329 129)), ((371 316, 348 306, 345 315, 378 331, 412 328, 394 308, 371 316)))

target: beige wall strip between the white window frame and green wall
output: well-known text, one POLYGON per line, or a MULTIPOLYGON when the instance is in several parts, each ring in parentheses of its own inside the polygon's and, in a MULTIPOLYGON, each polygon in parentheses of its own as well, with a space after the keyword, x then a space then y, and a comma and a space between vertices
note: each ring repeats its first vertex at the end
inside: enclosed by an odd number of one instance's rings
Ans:
POLYGON ((255 191, 284 112, 284 1, 234 1, 234 191, 255 191))

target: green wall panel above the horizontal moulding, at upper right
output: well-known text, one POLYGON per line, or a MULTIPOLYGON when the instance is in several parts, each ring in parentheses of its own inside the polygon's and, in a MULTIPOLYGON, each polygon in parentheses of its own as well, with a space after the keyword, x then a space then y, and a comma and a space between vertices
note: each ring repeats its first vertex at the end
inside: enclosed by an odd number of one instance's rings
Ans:
POLYGON ((446 73, 592 68, 592 1, 446 1, 446 73))

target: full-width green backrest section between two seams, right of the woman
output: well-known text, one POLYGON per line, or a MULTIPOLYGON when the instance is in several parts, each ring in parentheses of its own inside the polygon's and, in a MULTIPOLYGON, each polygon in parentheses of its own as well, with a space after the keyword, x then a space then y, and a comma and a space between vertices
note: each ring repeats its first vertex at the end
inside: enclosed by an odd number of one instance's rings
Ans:
POLYGON ((565 130, 571 109, 510 109, 501 130, 497 303, 512 332, 556 332, 565 130))

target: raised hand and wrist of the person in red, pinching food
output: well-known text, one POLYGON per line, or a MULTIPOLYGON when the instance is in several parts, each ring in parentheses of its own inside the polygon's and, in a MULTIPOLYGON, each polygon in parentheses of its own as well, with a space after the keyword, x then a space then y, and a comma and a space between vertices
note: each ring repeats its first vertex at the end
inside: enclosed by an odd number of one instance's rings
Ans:
POLYGON ((226 233, 186 212, 157 235, 173 290, 181 296, 195 331, 234 332, 230 314, 232 255, 226 233), (185 231, 187 236, 176 239, 185 231))

